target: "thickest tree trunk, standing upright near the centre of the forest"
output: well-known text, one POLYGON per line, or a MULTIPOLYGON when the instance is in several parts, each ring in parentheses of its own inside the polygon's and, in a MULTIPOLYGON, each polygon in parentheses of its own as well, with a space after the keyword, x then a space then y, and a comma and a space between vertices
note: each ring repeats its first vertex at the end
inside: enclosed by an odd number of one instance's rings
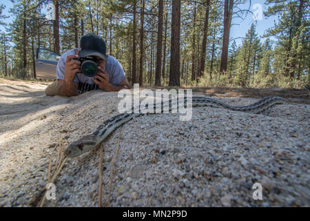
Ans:
POLYGON ((180 0, 172 0, 169 86, 180 86, 180 0))

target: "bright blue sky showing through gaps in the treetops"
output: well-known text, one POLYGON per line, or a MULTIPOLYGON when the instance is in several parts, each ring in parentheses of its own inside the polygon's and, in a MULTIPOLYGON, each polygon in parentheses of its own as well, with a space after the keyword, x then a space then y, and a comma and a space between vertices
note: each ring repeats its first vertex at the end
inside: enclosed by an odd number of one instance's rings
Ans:
MULTIPOLYGON (((262 12, 266 11, 268 7, 264 5, 264 2, 265 2, 265 0, 252 0, 250 10, 252 12, 259 11, 259 8, 261 7, 262 12), (256 6, 256 8, 253 8, 253 6, 256 6)), ((239 5, 239 7, 241 9, 248 9, 249 3, 250 3, 250 1, 247 1, 247 3, 239 5)), ((10 0, 1 0, 1 4, 6 6, 6 8, 4 10, 4 15, 10 15, 9 9, 12 8, 12 6, 13 6, 12 2, 10 0)), ((6 23, 10 23, 12 21, 12 19, 14 19, 14 18, 10 17, 9 19, 6 19, 6 23)), ((231 26, 230 38, 231 39, 238 38, 238 39, 236 39, 236 44, 240 45, 242 42, 242 39, 240 39, 240 37, 245 37, 245 34, 247 33, 247 31, 251 27, 251 23, 254 23, 254 21, 255 20, 250 13, 249 13, 249 15, 247 15, 247 17, 244 21, 241 21, 241 19, 234 19, 233 23, 236 23, 237 25, 231 26)), ((278 21, 278 17, 265 18, 263 13, 261 15, 261 19, 257 19, 256 32, 258 33, 258 36, 260 36, 260 39, 262 42, 265 41, 265 39, 262 38, 262 35, 265 34, 265 31, 268 28, 271 28, 273 26, 274 21, 278 21)), ((1 27, 0 29, 1 29, 1 31, 4 31, 3 27, 1 27)), ((271 38, 271 39, 273 39, 273 38, 271 38)), ((231 41, 231 43, 232 43, 232 41, 231 41)))

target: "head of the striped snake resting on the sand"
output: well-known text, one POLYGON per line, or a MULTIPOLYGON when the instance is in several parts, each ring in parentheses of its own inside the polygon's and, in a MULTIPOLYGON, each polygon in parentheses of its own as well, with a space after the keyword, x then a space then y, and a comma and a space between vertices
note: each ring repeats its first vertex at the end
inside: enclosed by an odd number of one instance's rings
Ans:
POLYGON ((78 157, 87 151, 92 150, 96 146, 92 135, 85 136, 76 142, 72 142, 64 151, 67 157, 78 157))

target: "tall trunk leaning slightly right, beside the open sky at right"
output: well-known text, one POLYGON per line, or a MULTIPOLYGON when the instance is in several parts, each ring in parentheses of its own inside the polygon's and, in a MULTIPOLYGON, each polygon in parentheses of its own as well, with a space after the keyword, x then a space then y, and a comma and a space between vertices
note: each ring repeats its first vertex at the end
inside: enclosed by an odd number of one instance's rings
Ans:
POLYGON ((226 73, 227 58, 228 58, 228 45, 229 45, 229 32, 231 26, 231 15, 233 10, 233 0, 225 0, 224 4, 224 35, 222 55, 220 58, 220 75, 226 73))

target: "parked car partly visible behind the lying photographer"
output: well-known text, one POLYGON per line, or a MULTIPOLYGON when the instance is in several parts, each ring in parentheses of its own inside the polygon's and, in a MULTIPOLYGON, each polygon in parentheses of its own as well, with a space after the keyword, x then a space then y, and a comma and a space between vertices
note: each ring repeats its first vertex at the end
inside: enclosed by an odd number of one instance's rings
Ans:
POLYGON ((52 50, 38 48, 36 55, 37 79, 56 79, 56 66, 60 55, 52 50))

